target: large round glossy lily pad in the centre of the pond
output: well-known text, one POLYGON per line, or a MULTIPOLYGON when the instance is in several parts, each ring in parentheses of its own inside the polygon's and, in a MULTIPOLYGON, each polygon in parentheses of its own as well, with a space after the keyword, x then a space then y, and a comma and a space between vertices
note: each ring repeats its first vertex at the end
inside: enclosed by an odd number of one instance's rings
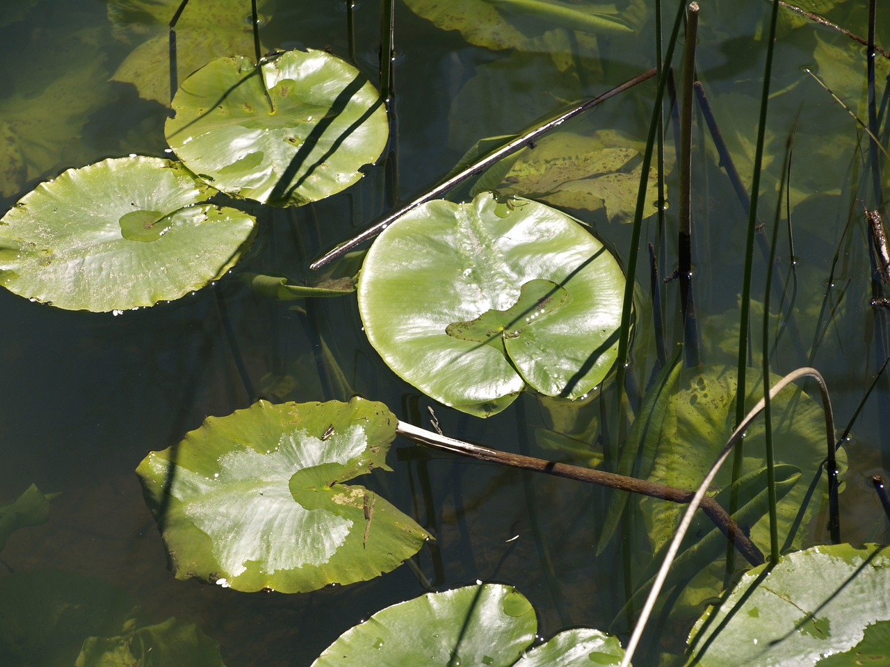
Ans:
POLYGON ((441 403, 490 416, 526 384, 580 398, 603 382, 624 280, 578 221, 484 193, 467 204, 429 202, 390 225, 361 269, 359 309, 396 374, 441 403), (540 315, 542 295, 557 298, 540 315))

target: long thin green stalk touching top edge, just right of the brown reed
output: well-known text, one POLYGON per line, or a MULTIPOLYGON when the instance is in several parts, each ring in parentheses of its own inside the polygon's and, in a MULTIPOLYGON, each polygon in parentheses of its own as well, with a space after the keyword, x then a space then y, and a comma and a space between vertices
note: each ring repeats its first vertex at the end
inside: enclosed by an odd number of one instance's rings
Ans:
MULTIPOLYGON (((739 317, 739 357, 737 362, 738 386, 735 393, 735 422, 740 424, 745 416, 746 382, 745 373, 748 368, 748 327, 751 320, 751 275, 754 266, 754 235, 757 221, 757 202, 760 198, 760 173, 764 163, 764 142, 766 136, 766 110, 770 99, 770 79, 773 75, 773 52, 776 42, 776 21, 779 16, 779 1, 773 0, 773 15, 770 19, 770 37, 766 46, 766 65, 764 71, 764 87, 760 96, 760 121, 757 126, 757 147, 754 154, 754 178, 751 183, 751 207, 748 211, 748 236, 745 240, 745 272, 741 282, 741 313, 739 317)), ((732 482, 741 477, 744 448, 736 447, 732 458, 732 482)), ((730 499, 730 514, 739 504, 738 494, 730 499)), ((727 572, 735 567, 735 556, 727 554, 727 572)))

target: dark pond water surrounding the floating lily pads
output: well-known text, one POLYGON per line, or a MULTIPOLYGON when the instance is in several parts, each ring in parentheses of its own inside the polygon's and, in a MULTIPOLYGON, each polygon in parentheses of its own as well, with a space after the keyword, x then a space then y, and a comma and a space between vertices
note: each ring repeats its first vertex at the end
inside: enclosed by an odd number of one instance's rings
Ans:
MULTIPOLYGON (((177 3, 166 4, 172 15, 177 3)), ((477 5, 490 9, 491 4, 466 0, 461 6, 475 11, 477 5)), ((320 363, 322 340, 352 392, 384 402, 402 420, 428 427, 432 407, 442 430, 453 437, 580 465, 600 461, 609 434, 621 437, 630 428, 627 422, 603 420, 614 402, 609 382, 602 398, 593 397, 581 408, 553 406, 527 392, 504 412, 481 420, 441 406, 393 374, 368 343, 352 295, 273 301, 253 293, 239 276, 307 275, 312 259, 441 179, 475 141, 520 132, 573 100, 604 92, 651 68, 655 45, 650 5, 619 2, 635 31, 629 34, 594 34, 558 25, 545 32, 552 17, 507 12, 504 25, 516 30, 514 42, 494 44, 511 38, 486 33, 481 20, 475 28, 465 25, 463 34, 442 29, 410 8, 433 12, 435 2, 397 2, 396 134, 387 154, 356 186, 312 205, 263 208, 247 257, 214 286, 178 301, 116 317, 53 309, 0 290, 0 501, 12 501, 31 484, 44 493, 61 492, 48 522, 21 529, 9 539, 0 553, 0 576, 56 568, 97 577, 126 591, 155 622, 175 616, 196 623, 220 644, 230 667, 309 665, 346 629, 425 592, 422 579, 409 567, 367 583, 295 595, 247 594, 182 582, 167 570, 164 544, 143 501, 135 467, 150 451, 179 442, 206 416, 231 414, 256 398, 349 398, 328 382, 320 363), (546 447, 554 439, 542 434, 554 430, 575 438, 573 451, 546 447)), ((698 76, 749 188, 769 4, 740 6, 722 0, 712 5, 700 17, 698 76)), ((245 19, 250 3, 207 6, 192 0, 186 8, 182 20, 194 12, 191 20, 197 27, 180 31, 181 54, 189 52, 190 39, 198 44, 196 58, 228 53, 232 44, 252 53, 245 19)), ((6 8, 0 16, 7 72, 0 90, 4 212, 37 182, 69 167, 131 153, 169 157, 163 129, 167 107, 140 97, 133 83, 117 80, 127 77, 122 63, 134 49, 160 36, 157 53, 129 62, 134 70, 151 72, 144 75, 151 81, 142 82, 144 95, 169 90, 166 29, 139 23, 141 7, 137 0, 32 0, 6 8)), ((267 19, 261 28, 266 49, 312 47, 347 59, 354 52, 355 64, 371 81, 379 81, 375 4, 365 0, 354 5, 352 44, 343 3, 276 0, 261 3, 261 12, 267 19)), ((674 6, 667 8, 666 35, 674 12, 674 6)), ((867 135, 805 70, 816 73, 867 122, 864 47, 831 28, 793 20, 792 12, 782 10, 780 18, 759 210, 765 223, 759 233, 767 241, 784 146, 795 126, 797 134, 790 168, 794 245, 792 251, 783 212, 775 277, 781 290, 771 302, 772 313, 781 313, 771 315, 772 368, 776 374, 798 366, 818 368, 827 379, 842 430, 890 350, 886 311, 869 305, 873 273, 863 214, 863 206, 874 208, 883 196, 876 195, 869 177, 867 135)), ((838 3, 828 18, 857 35, 866 33, 867 12, 860 3, 838 3)), ((886 16, 878 22, 878 44, 890 45, 886 16)), ((887 60, 878 57, 878 92, 884 91, 888 71, 887 60)), ((652 81, 640 84, 560 132, 597 136, 638 153, 645 144, 654 92, 652 81)), ((711 365, 735 366, 747 213, 703 118, 699 115, 695 122, 693 262, 700 357, 711 365)), ((676 229, 678 208, 673 132, 671 125, 668 229, 676 229)), ((570 136, 572 141, 577 140, 570 136)), ((882 141, 886 147, 886 133, 882 141)), ((561 159, 566 158, 554 157, 544 170, 557 169, 561 159)), ((624 165, 624 172, 632 172, 639 159, 636 155, 624 165)), ((884 157, 880 161, 886 164, 884 157)), ((878 181, 886 191, 886 178, 878 181)), ((452 198, 469 195, 464 189, 452 198)), ((566 210, 587 222, 627 266, 632 226, 614 210, 590 208, 595 210, 566 210)), ((657 243, 657 238, 657 216, 648 217, 637 265, 633 382, 628 384, 634 410, 656 363, 645 244, 657 243)), ((676 232, 669 233, 666 247, 659 260, 662 275, 676 265, 676 232)), ((765 293, 765 266, 765 256, 756 249, 751 293, 758 303, 765 293)), ((878 292, 887 289, 878 286, 878 292)), ((676 282, 661 288, 668 347, 682 337, 677 291, 676 282)), ((761 317, 762 309, 756 310, 751 345, 757 364, 761 317)), ((890 473, 888 386, 878 383, 845 447, 849 469, 840 498, 845 542, 886 541, 886 519, 869 478, 890 473)), ((805 388, 816 396, 814 385, 805 388)), ((726 435, 728 430, 715 433, 716 438, 726 435)), ((784 460, 781 442, 777 447, 784 460)), ((628 563, 620 557, 621 540, 597 556, 609 494, 576 481, 438 454, 407 440, 396 441, 389 463, 391 473, 375 473, 363 483, 435 535, 436 542, 416 558, 434 588, 477 580, 511 583, 538 610, 542 637, 587 625, 627 638, 620 611, 628 563)), ((805 478, 813 472, 806 470, 805 478)), ((825 522, 824 515, 813 517, 805 545, 829 540, 825 522)), ((629 533, 624 535, 628 541, 629 533)), ((659 638, 650 638, 650 646, 657 647, 660 639, 667 651, 682 647, 689 617, 682 618, 675 624, 668 619, 659 638), (681 639, 680 644, 668 636, 681 639)), ((655 663, 656 655, 658 650, 651 649, 642 663, 655 663)))

